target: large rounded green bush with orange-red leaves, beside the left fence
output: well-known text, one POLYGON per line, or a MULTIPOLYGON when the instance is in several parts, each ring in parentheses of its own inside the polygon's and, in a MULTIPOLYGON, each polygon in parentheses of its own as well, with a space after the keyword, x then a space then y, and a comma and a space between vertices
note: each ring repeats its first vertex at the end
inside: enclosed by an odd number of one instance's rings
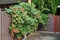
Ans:
POLYGON ((40 20, 44 20, 43 16, 40 15, 40 11, 35 9, 35 5, 28 3, 20 3, 5 8, 5 11, 11 17, 9 29, 18 39, 21 39, 23 36, 26 37, 37 30, 40 20))

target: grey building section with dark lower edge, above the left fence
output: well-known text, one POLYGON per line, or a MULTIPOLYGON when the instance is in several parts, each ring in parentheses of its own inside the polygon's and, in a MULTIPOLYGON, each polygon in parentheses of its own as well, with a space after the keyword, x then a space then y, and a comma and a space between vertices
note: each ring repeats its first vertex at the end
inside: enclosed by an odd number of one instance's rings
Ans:
MULTIPOLYGON (((28 0, 22 0, 22 2, 27 2, 28 0)), ((0 0, 0 8, 4 10, 5 7, 18 4, 17 0, 0 0)))

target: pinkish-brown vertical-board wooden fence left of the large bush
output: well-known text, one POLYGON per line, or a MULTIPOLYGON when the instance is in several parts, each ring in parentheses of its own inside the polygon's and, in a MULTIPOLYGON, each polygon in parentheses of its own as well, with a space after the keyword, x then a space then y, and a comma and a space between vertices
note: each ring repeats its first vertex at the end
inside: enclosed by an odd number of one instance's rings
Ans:
POLYGON ((9 34, 10 18, 0 9, 0 40, 12 40, 9 34))

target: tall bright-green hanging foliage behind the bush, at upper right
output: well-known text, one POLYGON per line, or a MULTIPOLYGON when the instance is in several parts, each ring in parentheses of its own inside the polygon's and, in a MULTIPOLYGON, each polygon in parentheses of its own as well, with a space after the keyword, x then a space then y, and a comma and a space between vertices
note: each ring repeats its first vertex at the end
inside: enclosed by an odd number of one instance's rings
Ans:
POLYGON ((37 9, 46 10, 53 15, 56 14, 57 0, 32 0, 32 2, 37 6, 37 9))

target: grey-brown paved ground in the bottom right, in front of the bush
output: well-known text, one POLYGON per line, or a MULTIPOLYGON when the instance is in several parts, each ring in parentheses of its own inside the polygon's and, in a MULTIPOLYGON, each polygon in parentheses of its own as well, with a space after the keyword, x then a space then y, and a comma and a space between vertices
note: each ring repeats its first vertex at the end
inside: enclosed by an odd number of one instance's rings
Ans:
POLYGON ((51 33, 34 33, 32 36, 28 37, 26 40, 60 40, 60 34, 51 33))

